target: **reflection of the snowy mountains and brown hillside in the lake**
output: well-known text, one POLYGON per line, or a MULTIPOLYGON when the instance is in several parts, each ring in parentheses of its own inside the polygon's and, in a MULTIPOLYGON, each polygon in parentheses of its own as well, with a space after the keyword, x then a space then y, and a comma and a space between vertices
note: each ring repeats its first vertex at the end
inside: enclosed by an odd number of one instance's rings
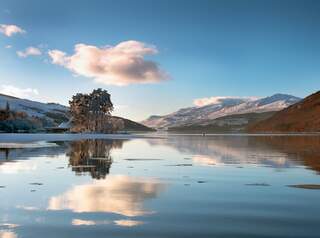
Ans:
POLYGON ((148 140, 190 154, 195 164, 262 164, 275 168, 304 165, 320 172, 318 136, 169 136, 148 140))

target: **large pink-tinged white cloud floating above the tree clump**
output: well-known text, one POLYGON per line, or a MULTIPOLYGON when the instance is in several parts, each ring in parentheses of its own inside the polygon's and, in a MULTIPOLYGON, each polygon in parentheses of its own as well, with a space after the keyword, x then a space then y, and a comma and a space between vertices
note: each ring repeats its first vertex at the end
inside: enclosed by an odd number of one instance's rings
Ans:
POLYGON ((156 62, 145 59, 145 56, 157 53, 155 46, 139 41, 124 41, 102 48, 77 44, 75 53, 70 56, 60 50, 48 52, 53 64, 61 65, 74 74, 93 78, 98 83, 119 86, 168 79, 156 62))

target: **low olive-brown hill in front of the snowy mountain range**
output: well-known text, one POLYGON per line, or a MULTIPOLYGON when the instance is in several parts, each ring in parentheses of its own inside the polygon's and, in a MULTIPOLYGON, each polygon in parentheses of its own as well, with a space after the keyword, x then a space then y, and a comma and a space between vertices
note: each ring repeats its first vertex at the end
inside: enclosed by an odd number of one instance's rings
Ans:
POLYGON ((206 124, 170 127, 169 131, 183 133, 244 133, 251 124, 270 118, 276 112, 245 113, 219 117, 206 124))

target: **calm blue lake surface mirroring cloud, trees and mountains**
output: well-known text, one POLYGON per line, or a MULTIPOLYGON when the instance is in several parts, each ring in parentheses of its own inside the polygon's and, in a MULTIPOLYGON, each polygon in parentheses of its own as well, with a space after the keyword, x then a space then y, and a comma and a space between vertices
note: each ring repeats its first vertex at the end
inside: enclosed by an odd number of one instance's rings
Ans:
POLYGON ((320 190, 304 188, 320 137, 20 146, 0 149, 0 238, 320 237, 320 190))

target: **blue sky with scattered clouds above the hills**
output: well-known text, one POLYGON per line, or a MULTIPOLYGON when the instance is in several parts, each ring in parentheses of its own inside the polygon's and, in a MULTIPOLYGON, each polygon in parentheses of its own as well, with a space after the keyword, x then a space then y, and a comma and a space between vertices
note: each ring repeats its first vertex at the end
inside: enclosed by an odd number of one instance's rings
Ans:
POLYGON ((141 121, 215 97, 320 88, 320 1, 0 0, 0 93, 109 91, 141 121))

